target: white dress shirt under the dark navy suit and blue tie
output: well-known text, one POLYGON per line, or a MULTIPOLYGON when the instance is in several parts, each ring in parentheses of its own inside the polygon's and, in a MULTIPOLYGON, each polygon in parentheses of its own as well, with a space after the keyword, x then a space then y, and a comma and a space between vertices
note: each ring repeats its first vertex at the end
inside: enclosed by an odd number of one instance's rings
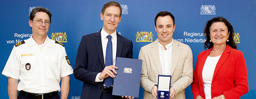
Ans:
MULTIPOLYGON (((102 28, 101 32, 101 44, 102 44, 102 51, 103 51, 103 57, 104 57, 104 64, 106 61, 106 49, 107 49, 107 42, 109 41, 109 39, 107 38, 107 36, 109 35, 106 31, 104 31, 104 29, 102 28)), ((117 48, 117 37, 116 37, 116 31, 114 33, 111 34, 112 38, 112 54, 113 54, 113 65, 116 65, 116 48, 117 48)), ((95 82, 102 82, 104 79, 100 80, 99 79, 100 73, 98 73, 96 75, 95 78, 95 82)))

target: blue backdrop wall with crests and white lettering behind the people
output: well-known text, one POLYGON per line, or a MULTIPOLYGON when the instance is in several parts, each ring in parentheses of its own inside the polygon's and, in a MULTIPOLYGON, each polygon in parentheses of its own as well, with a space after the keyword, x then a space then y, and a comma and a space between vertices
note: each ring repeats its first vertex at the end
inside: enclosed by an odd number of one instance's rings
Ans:
MULTIPOLYGON (((46 7, 52 13, 52 24, 48 32, 62 37, 71 66, 74 67, 76 52, 83 35, 100 31, 102 6, 109 0, 0 0, 0 45, 2 72, 13 45, 28 39, 32 34, 28 25, 29 11, 33 7, 46 7), (66 33, 66 36, 64 34, 66 33)), ((256 0, 118 0, 123 8, 121 23, 117 31, 133 41, 133 58, 137 59, 140 47, 156 40, 154 17, 160 11, 169 11, 175 16, 173 38, 189 45, 193 52, 193 66, 199 52, 204 51, 203 33, 206 21, 223 16, 232 24, 237 34, 238 50, 244 53, 247 63, 249 92, 241 99, 255 98, 256 78, 256 0), (138 36, 136 34, 144 34, 138 36), (152 37, 149 36, 152 32, 152 37), (148 36, 147 36, 148 35, 148 36), (140 39, 147 37, 148 39, 140 39), (136 39, 137 38, 137 39, 136 39), (149 39, 152 38, 152 39, 149 39)), ((8 99, 7 77, 0 75, 1 99, 8 99)), ((71 75, 71 88, 68 99, 80 99, 83 82, 71 75)), ((186 98, 192 99, 190 86, 185 90, 186 98)), ((143 99, 143 88, 140 96, 143 99)))

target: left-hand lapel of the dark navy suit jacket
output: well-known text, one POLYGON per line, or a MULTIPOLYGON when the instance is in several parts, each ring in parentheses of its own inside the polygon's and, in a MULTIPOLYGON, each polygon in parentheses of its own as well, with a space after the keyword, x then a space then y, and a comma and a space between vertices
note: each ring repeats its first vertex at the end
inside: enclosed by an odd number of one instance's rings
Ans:
POLYGON ((101 30, 95 34, 94 42, 97 48, 98 55, 100 57, 100 63, 102 64, 102 67, 105 68, 100 32, 101 30))

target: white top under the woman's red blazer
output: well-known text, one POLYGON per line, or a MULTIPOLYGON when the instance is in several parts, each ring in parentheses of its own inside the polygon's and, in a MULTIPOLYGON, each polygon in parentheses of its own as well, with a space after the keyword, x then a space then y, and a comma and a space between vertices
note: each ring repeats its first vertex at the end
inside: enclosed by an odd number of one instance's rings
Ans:
POLYGON ((204 82, 204 94, 205 99, 211 99, 211 82, 213 79, 213 73, 215 70, 215 67, 218 63, 218 60, 220 59, 220 56, 218 57, 207 57, 204 68, 202 71, 202 78, 204 82))

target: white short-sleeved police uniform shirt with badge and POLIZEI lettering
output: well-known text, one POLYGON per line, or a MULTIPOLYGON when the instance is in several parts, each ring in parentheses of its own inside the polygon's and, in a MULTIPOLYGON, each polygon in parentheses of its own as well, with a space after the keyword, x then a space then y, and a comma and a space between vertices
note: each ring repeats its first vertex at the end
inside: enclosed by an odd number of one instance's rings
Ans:
POLYGON ((40 47, 32 36, 24 42, 13 47, 2 74, 19 80, 18 91, 41 94, 60 91, 61 78, 73 73, 65 48, 48 36, 40 47), (30 64, 29 69, 26 64, 30 64))

